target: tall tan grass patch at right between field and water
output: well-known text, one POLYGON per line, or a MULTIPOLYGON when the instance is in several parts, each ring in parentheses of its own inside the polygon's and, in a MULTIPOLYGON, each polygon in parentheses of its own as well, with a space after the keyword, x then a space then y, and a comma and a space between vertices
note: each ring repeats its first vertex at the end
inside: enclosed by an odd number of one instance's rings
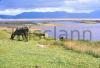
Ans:
POLYGON ((64 47, 80 53, 86 53, 96 58, 100 58, 100 42, 90 41, 65 41, 64 47))

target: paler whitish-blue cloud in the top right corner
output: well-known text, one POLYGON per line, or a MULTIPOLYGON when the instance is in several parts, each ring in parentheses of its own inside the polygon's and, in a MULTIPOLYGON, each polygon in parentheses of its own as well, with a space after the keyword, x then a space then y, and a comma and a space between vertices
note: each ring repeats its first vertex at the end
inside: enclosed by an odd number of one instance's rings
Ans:
POLYGON ((75 9, 100 9, 100 0, 64 0, 64 7, 70 7, 75 9))

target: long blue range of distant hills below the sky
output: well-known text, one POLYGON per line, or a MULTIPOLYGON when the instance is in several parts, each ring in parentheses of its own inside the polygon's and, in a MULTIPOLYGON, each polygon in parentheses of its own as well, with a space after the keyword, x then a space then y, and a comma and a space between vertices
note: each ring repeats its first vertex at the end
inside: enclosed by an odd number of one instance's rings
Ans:
POLYGON ((67 13, 67 12, 24 12, 16 16, 0 15, 3 19, 32 19, 32 18, 100 18, 100 11, 87 13, 67 13))

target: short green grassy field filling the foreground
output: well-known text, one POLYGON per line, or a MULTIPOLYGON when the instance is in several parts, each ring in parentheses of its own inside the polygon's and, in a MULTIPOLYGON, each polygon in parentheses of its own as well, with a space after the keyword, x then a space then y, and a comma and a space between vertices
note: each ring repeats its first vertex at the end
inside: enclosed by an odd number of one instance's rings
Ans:
POLYGON ((100 58, 53 41, 12 41, 9 37, 9 32, 0 30, 0 68, 100 68, 100 58))

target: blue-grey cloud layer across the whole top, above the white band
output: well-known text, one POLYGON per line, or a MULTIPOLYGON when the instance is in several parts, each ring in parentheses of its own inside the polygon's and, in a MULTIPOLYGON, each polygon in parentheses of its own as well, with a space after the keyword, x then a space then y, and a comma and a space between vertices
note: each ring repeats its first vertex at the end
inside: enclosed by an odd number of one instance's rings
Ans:
POLYGON ((2 0, 0 9, 70 7, 79 9, 100 9, 100 0, 2 0))

